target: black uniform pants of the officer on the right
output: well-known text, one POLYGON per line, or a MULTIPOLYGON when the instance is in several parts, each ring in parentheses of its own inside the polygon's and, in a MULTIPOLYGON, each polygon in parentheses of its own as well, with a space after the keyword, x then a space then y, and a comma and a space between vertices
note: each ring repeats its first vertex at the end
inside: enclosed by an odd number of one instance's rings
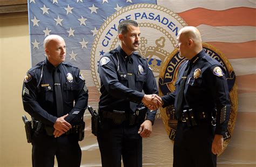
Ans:
POLYGON ((186 122, 178 122, 173 148, 173 167, 215 167, 217 156, 212 154, 215 128, 210 120, 188 128, 186 122))

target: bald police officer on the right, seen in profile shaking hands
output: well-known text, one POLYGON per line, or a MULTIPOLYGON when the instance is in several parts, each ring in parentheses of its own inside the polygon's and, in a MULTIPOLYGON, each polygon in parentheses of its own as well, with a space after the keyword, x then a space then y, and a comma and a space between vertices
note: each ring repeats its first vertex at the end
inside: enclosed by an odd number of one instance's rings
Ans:
POLYGON ((216 166, 231 109, 226 71, 205 53, 196 27, 181 29, 177 40, 186 60, 179 68, 176 91, 161 97, 163 107, 174 104, 178 119, 173 166, 216 166))

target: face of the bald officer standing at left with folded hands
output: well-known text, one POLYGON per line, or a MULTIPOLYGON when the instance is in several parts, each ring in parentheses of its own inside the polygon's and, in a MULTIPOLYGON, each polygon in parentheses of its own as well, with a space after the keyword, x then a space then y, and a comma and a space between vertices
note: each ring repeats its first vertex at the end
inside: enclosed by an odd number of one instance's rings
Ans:
POLYGON ((65 61, 66 44, 62 38, 52 39, 45 48, 48 60, 53 66, 65 61))

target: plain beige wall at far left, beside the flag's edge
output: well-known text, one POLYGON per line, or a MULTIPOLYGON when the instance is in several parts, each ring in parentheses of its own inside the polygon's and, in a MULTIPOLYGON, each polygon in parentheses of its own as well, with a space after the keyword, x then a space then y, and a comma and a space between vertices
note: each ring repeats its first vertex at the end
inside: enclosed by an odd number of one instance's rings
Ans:
POLYGON ((27 15, 0 16, 0 57, 0 166, 32 166, 21 119, 22 83, 30 68, 27 15))

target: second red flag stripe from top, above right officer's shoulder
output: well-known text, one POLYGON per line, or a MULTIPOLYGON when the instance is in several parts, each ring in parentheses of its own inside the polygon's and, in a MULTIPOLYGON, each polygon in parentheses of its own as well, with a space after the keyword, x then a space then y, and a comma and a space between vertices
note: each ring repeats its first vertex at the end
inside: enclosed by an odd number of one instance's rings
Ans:
POLYGON ((245 43, 207 42, 207 44, 218 48, 228 59, 256 58, 256 40, 245 43))

